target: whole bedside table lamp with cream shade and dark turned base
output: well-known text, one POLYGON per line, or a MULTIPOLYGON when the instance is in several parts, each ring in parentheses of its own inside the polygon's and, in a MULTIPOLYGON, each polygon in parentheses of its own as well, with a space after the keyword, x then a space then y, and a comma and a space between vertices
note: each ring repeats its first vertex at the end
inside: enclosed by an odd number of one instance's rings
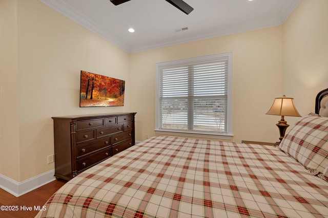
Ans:
POLYGON ((301 117, 294 105, 294 98, 286 98, 285 95, 283 95, 282 98, 275 98, 270 110, 266 114, 281 116, 281 120, 279 120, 276 124, 279 128, 280 141, 276 142, 275 145, 280 144, 282 138, 285 136, 286 128, 289 126, 289 124, 287 124, 284 120, 284 116, 301 117))

